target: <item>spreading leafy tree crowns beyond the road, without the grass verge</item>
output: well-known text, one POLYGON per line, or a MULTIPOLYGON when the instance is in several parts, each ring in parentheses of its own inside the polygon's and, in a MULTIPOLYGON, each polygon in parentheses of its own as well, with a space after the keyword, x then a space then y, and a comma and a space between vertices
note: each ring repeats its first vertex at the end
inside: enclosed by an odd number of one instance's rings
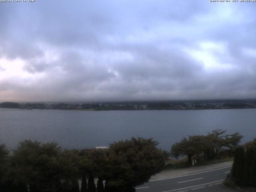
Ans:
POLYGON ((216 157, 233 156, 239 146, 242 135, 238 132, 226 134, 226 130, 216 129, 207 135, 193 135, 183 138, 171 147, 171 156, 179 158, 187 156, 188 163, 194 159, 213 159, 216 157))

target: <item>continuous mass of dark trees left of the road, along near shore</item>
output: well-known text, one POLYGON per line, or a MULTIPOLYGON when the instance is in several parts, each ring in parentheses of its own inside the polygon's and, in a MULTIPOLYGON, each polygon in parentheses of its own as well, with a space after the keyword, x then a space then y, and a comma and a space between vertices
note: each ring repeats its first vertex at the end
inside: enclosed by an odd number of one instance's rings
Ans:
POLYGON ((2 144, 0 191, 133 192, 164 167, 166 154, 157 144, 132 138, 107 149, 62 150, 54 142, 25 140, 12 154, 2 144))

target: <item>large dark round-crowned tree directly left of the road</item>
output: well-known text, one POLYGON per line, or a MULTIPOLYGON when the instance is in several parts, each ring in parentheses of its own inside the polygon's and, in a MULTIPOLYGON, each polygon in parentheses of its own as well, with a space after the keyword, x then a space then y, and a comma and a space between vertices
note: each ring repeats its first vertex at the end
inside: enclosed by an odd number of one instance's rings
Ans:
POLYGON ((104 167, 107 188, 111 191, 132 191, 162 170, 164 153, 152 139, 132 138, 110 144, 104 167))

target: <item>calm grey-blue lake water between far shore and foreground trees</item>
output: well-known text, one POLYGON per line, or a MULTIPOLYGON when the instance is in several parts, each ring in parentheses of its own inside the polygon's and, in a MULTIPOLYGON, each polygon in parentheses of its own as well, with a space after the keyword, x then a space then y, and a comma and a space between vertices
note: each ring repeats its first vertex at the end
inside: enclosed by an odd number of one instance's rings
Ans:
POLYGON ((170 150, 174 142, 214 129, 256 137, 256 109, 79 111, 0 109, 0 144, 15 149, 30 139, 63 148, 91 148, 131 137, 154 138, 170 150))

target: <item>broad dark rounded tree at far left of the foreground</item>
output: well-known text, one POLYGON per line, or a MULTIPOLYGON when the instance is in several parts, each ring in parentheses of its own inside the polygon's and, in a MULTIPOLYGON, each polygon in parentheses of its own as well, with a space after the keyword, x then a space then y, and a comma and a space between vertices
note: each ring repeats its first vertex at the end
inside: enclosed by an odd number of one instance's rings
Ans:
POLYGON ((29 186, 30 192, 56 191, 60 187, 60 147, 56 143, 20 142, 12 156, 16 183, 29 186))

